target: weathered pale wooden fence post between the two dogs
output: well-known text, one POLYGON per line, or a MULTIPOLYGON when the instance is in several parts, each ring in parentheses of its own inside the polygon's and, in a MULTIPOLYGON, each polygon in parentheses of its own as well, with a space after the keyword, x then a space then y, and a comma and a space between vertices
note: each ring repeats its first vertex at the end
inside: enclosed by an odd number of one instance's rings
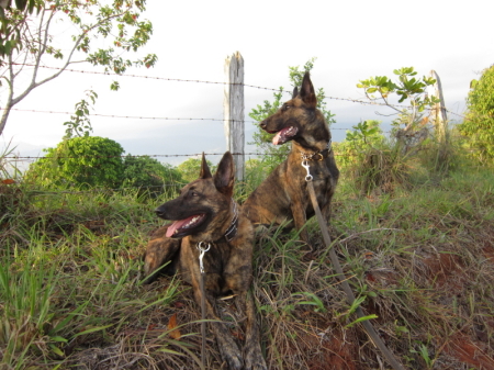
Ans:
POLYGON ((244 58, 237 52, 225 60, 225 99, 223 119, 225 125, 226 149, 235 153, 235 179, 245 177, 245 113, 244 113, 244 58))

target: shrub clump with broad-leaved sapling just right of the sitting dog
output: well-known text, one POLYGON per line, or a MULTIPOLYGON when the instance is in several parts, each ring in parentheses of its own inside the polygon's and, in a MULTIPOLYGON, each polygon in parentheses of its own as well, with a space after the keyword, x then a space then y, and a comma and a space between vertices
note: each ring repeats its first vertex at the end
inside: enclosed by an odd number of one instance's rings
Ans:
POLYGON ((353 131, 347 132, 346 141, 335 145, 361 194, 390 193, 396 184, 409 186, 417 176, 417 161, 428 162, 428 170, 438 176, 447 173, 454 161, 454 146, 447 141, 450 135, 437 137, 429 122, 438 99, 428 97, 426 89, 436 80, 415 78, 413 67, 395 69, 394 74, 397 81, 377 76, 357 85, 371 102, 392 110, 389 115, 395 119, 391 135, 382 133, 379 121, 369 120, 355 125, 353 131), (403 102, 407 105, 400 104, 403 102))

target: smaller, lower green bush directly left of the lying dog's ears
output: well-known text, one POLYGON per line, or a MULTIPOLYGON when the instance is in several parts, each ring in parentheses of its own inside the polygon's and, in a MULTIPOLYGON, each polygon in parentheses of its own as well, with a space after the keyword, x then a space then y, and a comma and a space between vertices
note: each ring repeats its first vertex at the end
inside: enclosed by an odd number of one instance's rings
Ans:
MULTIPOLYGON (((173 193, 182 182, 180 171, 148 156, 124 158, 123 187, 148 189, 150 193, 173 193)), ((199 175, 199 172, 198 172, 199 175)), ((198 177, 198 175, 195 177, 198 177)))

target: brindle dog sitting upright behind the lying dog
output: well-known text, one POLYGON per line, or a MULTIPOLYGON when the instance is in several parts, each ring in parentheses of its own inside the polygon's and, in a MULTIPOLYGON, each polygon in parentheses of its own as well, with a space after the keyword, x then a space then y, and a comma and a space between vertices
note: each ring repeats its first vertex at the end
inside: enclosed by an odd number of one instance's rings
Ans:
MULTIPOLYGON (((281 145, 292 141, 289 157, 279 165, 268 178, 248 197, 243 204, 247 217, 256 224, 282 224, 291 221, 302 229, 305 222, 314 215, 307 183, 306 160, 313 176, 317 202, 325 220, 329 221, 330 201, 338 181, 332 150, 332 134, 323 113, 316 109, 317 98, 308 72, 305 72, 302 87, 293 90, 292 99, 281 109, 260 123, 268 133, 277 133, 272 143, 281 145)), ((308 244, 308 234, 301 232, 302 239, 308 244)))

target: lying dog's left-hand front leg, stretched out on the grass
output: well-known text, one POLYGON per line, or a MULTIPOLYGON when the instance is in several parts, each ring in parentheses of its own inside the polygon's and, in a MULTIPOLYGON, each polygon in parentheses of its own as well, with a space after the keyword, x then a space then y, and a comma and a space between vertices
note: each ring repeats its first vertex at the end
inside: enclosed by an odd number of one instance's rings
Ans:
MULTIPOLYGON (((195 290, 195 300, 199 305, 201 305, 201 291, 199 289, 195 290)), ((215 298, 207 291, 205 292, 205 309, 207 318, 216 321, 211 324, 223 360, 228 363, 228 368, 231 370, 244 369, 244 360, 242 358, 240 350, 232 337, 229 329, 217 314, 215 298)))

